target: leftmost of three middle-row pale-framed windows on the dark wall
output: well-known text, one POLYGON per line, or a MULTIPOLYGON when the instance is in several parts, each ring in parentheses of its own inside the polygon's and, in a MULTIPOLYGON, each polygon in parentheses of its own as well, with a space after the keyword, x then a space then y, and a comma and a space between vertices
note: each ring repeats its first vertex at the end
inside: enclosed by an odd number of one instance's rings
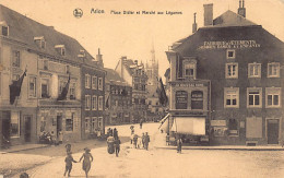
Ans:
POLYGON ((225 87, 224 88, 224 107, 239 107, 239 88, 238 87, 225 87))

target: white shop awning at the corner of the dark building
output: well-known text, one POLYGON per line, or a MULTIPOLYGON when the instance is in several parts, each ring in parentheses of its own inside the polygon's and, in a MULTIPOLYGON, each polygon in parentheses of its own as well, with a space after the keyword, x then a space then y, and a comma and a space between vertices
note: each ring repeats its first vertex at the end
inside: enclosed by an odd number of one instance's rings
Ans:
POLYGON ((205 135, 205 118, 176 117, 170 130, 184 134, 205 135))

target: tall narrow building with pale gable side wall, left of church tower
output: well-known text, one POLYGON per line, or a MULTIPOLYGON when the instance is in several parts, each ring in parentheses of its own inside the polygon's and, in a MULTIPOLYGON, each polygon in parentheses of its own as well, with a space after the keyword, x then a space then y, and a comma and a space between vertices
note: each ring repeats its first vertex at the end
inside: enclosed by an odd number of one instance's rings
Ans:
POLYGON ((132 86, 132 109, 133 118, 132 122, 139 122, 147 120, 146 117, 146 84, 147 75, 144 70, 144 64, 138 64, 137 60, 127 59, 122 57, 115 71, 129 85, 132 86))

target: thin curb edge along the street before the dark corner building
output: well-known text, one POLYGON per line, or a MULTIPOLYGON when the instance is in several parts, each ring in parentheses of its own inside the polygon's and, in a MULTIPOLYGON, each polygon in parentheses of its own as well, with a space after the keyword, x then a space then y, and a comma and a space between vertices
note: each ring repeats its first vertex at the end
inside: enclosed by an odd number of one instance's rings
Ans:
MULTIPOLYGON (((155 146, 159 150, 177 150, 176 146, 155 146)), ((284 151, 284 147, 189 147, 182 146, 182 150, 204 150, 204 151, 284 151)))

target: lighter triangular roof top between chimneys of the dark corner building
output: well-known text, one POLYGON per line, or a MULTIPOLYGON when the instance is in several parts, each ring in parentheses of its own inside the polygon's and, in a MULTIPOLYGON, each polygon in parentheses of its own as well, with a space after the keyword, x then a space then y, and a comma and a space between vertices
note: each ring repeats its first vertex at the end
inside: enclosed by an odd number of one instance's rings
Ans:
POLYGON ((250 22, 246 17, 228 10, 218 17, 213 20, 213 26, 248 26, 257 25, 253 22, 250 22))

